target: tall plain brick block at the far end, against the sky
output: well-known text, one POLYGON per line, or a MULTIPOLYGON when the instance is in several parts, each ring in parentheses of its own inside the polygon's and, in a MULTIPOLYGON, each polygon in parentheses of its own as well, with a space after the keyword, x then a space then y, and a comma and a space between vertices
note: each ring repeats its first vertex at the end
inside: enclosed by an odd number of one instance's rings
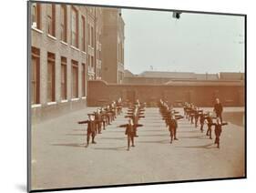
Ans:
POLYGON ((102 79, 122 83, 124 78, 124 21, 121 10, 102 9, 102 79))

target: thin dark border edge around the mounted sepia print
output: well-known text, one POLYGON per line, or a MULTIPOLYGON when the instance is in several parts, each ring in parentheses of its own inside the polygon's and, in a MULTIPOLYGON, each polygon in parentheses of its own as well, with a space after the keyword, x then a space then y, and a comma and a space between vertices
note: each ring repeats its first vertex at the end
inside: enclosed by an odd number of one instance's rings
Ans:
POLYGON ((27 166, 26 166, 26 183, 27 192, 46 192, 46 191, 63 191, 63 190, 78 190, 78 189, 92 189, 92 188, 119 188, 119 187, 135 187, 135 186, 146 186, 146 185, 161 185, 161 184, 178 184, 187 182, 205 182, 205 181, 219 181, 219 180, 230 180, 230 179, 245 179, 247 178, 247 15, 246 14, 233 14, 233 13, 219 13, 219 12, 207 12, 207 11, 190 11, 182 9, 164 9, 164 8, 152 8, 152 7, 139 7, 139 6, 123 6, 123 5, 97 5, 97 4, 82 4, 82 3, 70 3, 70 2, 52 2, 52 1, 36 1, 28 0, 26 2, 26 38, 27 38, 27 53, 26 53, 26 150, 27 150, 27 166), (205 178, 205 179, 189 179, 189 180, 178 180, 178 181, 159 181, 159 182, 147 182, 147 183, 133 183, 133 184, 117 184, 117 185, 103 185, 103 186, 90 186, 90 187, 76 187, 76 188, 46 188, 46 189, 31 189, 31 100, 30 100, 30 66, 31 66, 31 10, 30 4, 41 3, 41 4, 57 4, 57 5, 84 5, 94 7, 106 7, 106 8, 123 8, 123 9, 134 9, 134 10, 148 10, 148 11, 164 11, 164 12, 182 12, 189 14, 204 14, 204 15, 232 15, 242 16, 244 18, 244 177, 235 178, 205 178))

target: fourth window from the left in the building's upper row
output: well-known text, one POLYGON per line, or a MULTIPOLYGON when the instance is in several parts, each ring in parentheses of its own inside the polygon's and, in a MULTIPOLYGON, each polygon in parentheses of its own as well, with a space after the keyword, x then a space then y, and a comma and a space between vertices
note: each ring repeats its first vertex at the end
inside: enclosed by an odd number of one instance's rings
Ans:
POLYGON ((78 47, 78 17, 77 10, 72 7, 71 19, 71 45, 78 47))

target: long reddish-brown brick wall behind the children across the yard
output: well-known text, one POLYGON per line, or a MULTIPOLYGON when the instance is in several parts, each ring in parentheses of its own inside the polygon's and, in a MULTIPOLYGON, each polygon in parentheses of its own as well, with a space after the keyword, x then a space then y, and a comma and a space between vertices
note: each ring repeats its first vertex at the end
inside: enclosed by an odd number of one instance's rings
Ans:
POLYGON ((88 81, 87 106, 107 105, 122 97, 124 101, 139 99, 154 106, 160 98, 178 107, 193 102, 199 107, 212 107, 215 98, 227 107, 244 106, 244 84, 237 82, 174 83, 173 85, 117 85, 104 81, 88 81))

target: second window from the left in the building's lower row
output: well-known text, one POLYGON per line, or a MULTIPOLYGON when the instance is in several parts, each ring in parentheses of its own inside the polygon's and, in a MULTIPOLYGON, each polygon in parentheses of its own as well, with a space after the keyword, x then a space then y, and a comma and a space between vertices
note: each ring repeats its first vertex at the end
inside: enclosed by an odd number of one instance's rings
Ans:
POLYGON ((47 101, 55 101, 55 54, 47 54, 47 101))

